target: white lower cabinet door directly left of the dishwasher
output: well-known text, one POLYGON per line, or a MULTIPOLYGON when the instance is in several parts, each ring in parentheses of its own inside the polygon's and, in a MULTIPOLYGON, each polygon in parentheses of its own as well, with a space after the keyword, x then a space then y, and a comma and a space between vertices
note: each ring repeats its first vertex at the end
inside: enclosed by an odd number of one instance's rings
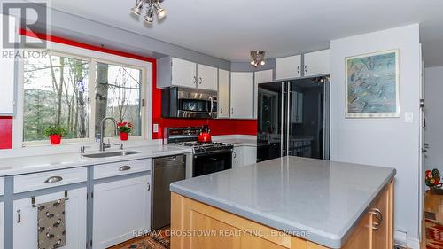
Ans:
POLYGON ((94 185, 93 248, 102 249, 151 229, 151 176, 94 185))

